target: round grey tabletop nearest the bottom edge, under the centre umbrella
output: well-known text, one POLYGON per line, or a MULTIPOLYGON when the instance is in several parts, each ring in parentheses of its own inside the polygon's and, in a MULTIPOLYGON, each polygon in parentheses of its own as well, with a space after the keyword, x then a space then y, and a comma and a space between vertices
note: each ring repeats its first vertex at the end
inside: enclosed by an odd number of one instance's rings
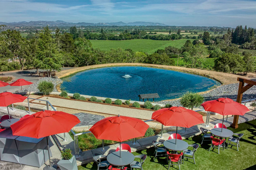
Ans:
POLYGON ((120 151, 113 152, 107 156, 107 161, 115 166, 125 166, 131 164, 134 161, 134 155, 127 151, 121 151, 121 158, 120 158, 120 151))

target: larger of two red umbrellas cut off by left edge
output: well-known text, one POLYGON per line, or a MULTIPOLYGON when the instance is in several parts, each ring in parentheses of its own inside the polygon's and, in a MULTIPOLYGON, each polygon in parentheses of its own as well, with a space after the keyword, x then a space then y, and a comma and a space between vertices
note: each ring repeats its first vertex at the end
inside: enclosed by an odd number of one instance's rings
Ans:
POLYGON ((26 98, 27 98, 26 96, 21 96, 20 94, 12 94, 10 92, 0 93, 0 106, 7 107, 10 122, 11 122, 11 118, 10 118, 8 106, 13 103, 23 102, 26 98))

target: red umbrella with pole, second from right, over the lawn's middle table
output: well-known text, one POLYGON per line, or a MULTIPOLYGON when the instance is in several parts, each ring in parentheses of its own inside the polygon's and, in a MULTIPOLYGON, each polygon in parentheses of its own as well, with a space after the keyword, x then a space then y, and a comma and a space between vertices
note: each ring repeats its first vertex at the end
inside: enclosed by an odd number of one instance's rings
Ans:
POLYGON ((151 119, 154 119, 165 126, 176 126, 176 140, 178 126, 189 128, 194 125, 204 123, 203 116, 201 114, 179 106, 163 108, 155 111, 152 113, 151 119))

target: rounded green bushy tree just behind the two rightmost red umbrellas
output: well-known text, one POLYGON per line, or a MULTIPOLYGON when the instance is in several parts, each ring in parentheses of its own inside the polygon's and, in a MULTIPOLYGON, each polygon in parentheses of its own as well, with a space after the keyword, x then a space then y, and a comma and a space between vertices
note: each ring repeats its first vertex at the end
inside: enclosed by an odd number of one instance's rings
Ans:
POLYGON ((204 101, 204 97, 197 93, 186 92, 180 99, 180 104, 185 107, 193 110, 194 107, 200 106, 204 101))

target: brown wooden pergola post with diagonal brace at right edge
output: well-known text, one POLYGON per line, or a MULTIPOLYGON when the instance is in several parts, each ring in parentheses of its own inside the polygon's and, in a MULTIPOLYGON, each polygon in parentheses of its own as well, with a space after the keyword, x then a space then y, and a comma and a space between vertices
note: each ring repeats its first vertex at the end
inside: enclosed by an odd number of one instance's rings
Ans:
MULTIPOLYGON (((253 85, 256 85, 256 79, 244 79, 241 77, 237 77, 237 81, 239 81, 239 88, 238 88, 236 102, 241 103, 243 93, 247 91, 249 88, 253 87, 253 85), (247 85, 244 86, 244 83, 247 83, 247 85)), ((239 119, 239 115, 235 115, 233 124, 231 125, 231 127, 235 129, 238 128, 238 119, 239 119)))

